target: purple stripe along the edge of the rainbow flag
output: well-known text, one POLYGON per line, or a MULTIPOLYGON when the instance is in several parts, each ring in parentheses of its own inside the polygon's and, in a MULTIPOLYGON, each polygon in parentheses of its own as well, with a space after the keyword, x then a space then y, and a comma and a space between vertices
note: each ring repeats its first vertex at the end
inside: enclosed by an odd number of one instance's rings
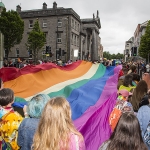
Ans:
POLYGON ((107 80, 97 103, 74 121, 75 126, 84 136, 87 150, 98 150, 111 135, 108 118, 116 102, 120 69, 121 66, 114 69, 114 75, 107 80))

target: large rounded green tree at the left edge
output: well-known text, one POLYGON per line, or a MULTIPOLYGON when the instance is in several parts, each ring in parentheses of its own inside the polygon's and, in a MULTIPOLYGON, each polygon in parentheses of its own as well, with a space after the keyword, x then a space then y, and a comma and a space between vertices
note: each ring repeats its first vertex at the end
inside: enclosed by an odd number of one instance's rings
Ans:
POLYGON ((11 48, 21 42, 24 22, 16 11, 6 12, 6 9, 3 8, 0 17, 0 31, 4 35, 4 48, 8 58, 11 48))

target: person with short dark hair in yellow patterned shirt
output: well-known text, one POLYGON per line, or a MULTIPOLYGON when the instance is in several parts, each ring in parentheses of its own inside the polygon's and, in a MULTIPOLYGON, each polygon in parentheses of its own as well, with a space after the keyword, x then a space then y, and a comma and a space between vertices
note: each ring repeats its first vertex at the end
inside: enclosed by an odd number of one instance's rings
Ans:
POLYGON ((0 90, 0 141, 1 149, 19 150, 17 145, 18 127, 22 121, 20 114, 12 108, 14 92, 11 89, 0 90))

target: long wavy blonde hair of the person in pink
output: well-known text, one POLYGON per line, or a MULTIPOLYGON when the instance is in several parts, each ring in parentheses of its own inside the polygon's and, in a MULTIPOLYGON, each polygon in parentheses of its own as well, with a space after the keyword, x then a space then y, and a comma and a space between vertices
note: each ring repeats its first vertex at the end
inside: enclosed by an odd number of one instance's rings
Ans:
POLYGON ((38 129, 33 138, 34 150, 69 150, 69 135, 74 133, 83 139, 71 120, 71 109, 63 97, 47 102, 38 129))

